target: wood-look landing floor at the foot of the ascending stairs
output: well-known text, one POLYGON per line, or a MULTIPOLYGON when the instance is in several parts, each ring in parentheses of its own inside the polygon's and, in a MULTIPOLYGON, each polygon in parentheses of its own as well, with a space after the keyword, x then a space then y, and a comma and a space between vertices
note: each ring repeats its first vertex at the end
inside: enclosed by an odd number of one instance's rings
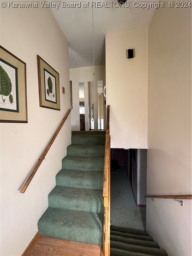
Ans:
POLYGON ((28 256, 100 256, 101 247, 40 237, 28 256))

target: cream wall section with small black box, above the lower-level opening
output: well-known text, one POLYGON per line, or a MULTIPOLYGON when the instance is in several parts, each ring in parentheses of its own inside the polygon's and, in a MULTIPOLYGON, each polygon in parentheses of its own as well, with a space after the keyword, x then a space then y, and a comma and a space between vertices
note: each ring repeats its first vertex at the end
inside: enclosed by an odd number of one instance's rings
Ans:
POLYGON ((108 34, 106 99, 112 148, 147 148, 147 29, 108 34), (126 49, 135 48, 127 59, 126 49))

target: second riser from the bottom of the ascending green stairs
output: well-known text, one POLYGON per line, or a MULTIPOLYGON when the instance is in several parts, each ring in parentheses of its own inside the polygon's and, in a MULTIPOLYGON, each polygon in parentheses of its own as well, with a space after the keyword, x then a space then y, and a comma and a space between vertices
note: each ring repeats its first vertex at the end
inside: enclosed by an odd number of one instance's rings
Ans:
MULTIPOLYGON (((78 196, 77 196, 78 198, 78 196)), ((100 198, 65 198, 64 195, 49 195, 49 207, 51 208, 60 208, 60 209, 69 209, 76 211, 86 211, 94 213, 104 213, 103 209, 103 198, 102 192, 100 198)))

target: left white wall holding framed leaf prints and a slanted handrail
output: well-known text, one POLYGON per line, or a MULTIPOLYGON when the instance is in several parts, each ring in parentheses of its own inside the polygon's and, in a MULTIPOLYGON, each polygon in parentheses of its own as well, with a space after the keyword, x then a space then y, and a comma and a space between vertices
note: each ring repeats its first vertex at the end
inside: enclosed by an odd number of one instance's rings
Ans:
POLYGON ((38 231, 37 222, 48 207, 48 193, 71 142, 69 116, 21 194, 22 185, 70 108, 68 42, 48 8, 1 8, 0 22, 1 45, 27 66, 28 123, 1 123, 1 255, 17 256, 38 231), (61 111, 39 107, 37 54, 60 74, 61 111))

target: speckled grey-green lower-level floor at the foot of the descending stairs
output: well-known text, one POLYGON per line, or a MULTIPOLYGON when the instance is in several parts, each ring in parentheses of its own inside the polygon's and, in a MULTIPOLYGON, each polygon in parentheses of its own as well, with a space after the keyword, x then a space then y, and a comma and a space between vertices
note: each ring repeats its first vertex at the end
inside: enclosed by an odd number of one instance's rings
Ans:
POLYGON ((146 208, 136 206, 127 172, 124 167, 121 170, 111 173, 111 224, 146 230, 146 208))

